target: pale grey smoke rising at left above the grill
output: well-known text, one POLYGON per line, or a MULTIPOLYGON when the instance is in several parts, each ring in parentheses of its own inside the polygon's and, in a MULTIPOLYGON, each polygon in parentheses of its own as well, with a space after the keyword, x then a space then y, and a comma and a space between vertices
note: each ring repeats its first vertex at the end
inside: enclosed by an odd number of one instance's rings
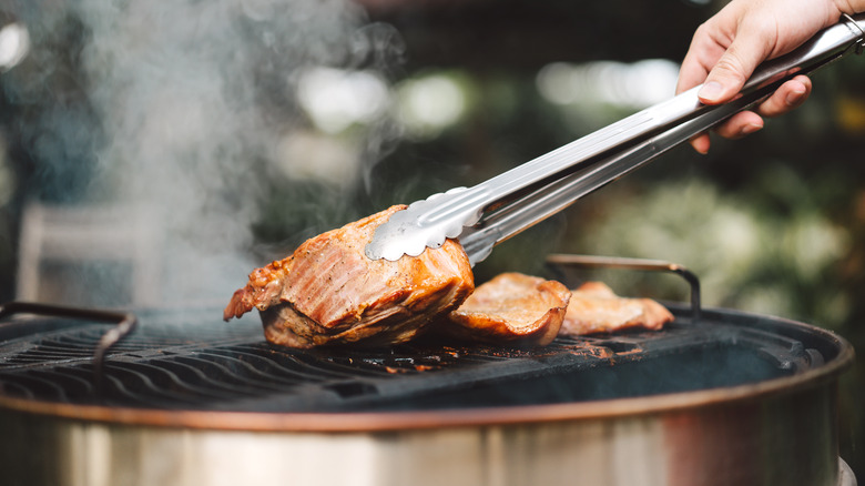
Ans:
POLYGON ((399 55, 394 32, 340 0, 72 8, 88 32, 80 60, 103 141, 89 190, 149 225, 159 269, 151 304, 224 303, 262 264, 248 257, 251 227, 285 176, 281 143, 304 128, 297 73, 383 69, 399 55))

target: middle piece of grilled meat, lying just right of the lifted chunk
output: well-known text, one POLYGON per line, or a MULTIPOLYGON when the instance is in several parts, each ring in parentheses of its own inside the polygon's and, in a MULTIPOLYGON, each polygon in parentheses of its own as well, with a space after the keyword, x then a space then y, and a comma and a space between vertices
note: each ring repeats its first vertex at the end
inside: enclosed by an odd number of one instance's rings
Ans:
POLYGON ((542 346, 559 333, 570 291, 556 281, 502 273, 479 285, 439 331, 467 341, 542 346))

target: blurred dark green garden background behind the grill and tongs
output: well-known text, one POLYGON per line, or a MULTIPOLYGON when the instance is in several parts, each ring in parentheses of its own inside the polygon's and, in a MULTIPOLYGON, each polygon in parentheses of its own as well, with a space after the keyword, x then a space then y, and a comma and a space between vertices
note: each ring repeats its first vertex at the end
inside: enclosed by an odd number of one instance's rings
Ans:
MULTIPOLYGON (((162 295, 147 304, 186 291, 222 302, 312 235, 472 185, 671 97, 694 29, 723 4, 141 3, 0 2, 0 22, 27 30, 23 48, 20 31, 0 32, 3 301, 33 297, 20 288, 28 207, 130 203, 183 249, 160 253, 162 295), (218 277, 191 282, 177 269, 192 261, 218 277), (176 273, 184 283, 169 282, 176 273)), ((552 252, 669 260, 701 277, 705 305, 813 323, 865 348, 863 85, 865 58, 832 64, 794 113, 713 139, 708 155, 673 150, 502 244, 477 275, 543 274, 552 252)), ((44 260, 37 298, 134 294, 118 283, 123 265, 44 260)), ((685 295, 653 275, 587 277, 685 295)), ((842 379, 839 437, 861 479, 863 383, 859 360, 842 379)))

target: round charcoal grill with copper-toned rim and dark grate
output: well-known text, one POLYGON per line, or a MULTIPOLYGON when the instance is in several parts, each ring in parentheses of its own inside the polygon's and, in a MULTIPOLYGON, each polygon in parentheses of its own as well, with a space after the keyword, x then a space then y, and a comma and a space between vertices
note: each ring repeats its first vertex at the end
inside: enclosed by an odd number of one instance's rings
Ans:
POLYGON ((104 314, 50 307, 0 326, 0 469, 12 485, 855 484, 843 338, 668 306, 662 332, 385 351, 274 346, 216 308, 141 312, 104 347, 104 314))

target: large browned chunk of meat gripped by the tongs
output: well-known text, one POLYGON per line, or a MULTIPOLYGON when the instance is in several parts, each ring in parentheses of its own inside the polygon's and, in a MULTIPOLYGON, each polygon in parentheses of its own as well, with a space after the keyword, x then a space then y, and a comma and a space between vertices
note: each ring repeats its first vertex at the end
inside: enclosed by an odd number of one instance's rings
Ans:
POLYGON ((323 233, 287 259, 255 270, 232 296, 224 318, 256 307, 267 341, 292 347, 410 340, 461 304, 475 281, 466 252, 452 240, 396 262, 364 254, 376 227, 405 207, 323 233))

